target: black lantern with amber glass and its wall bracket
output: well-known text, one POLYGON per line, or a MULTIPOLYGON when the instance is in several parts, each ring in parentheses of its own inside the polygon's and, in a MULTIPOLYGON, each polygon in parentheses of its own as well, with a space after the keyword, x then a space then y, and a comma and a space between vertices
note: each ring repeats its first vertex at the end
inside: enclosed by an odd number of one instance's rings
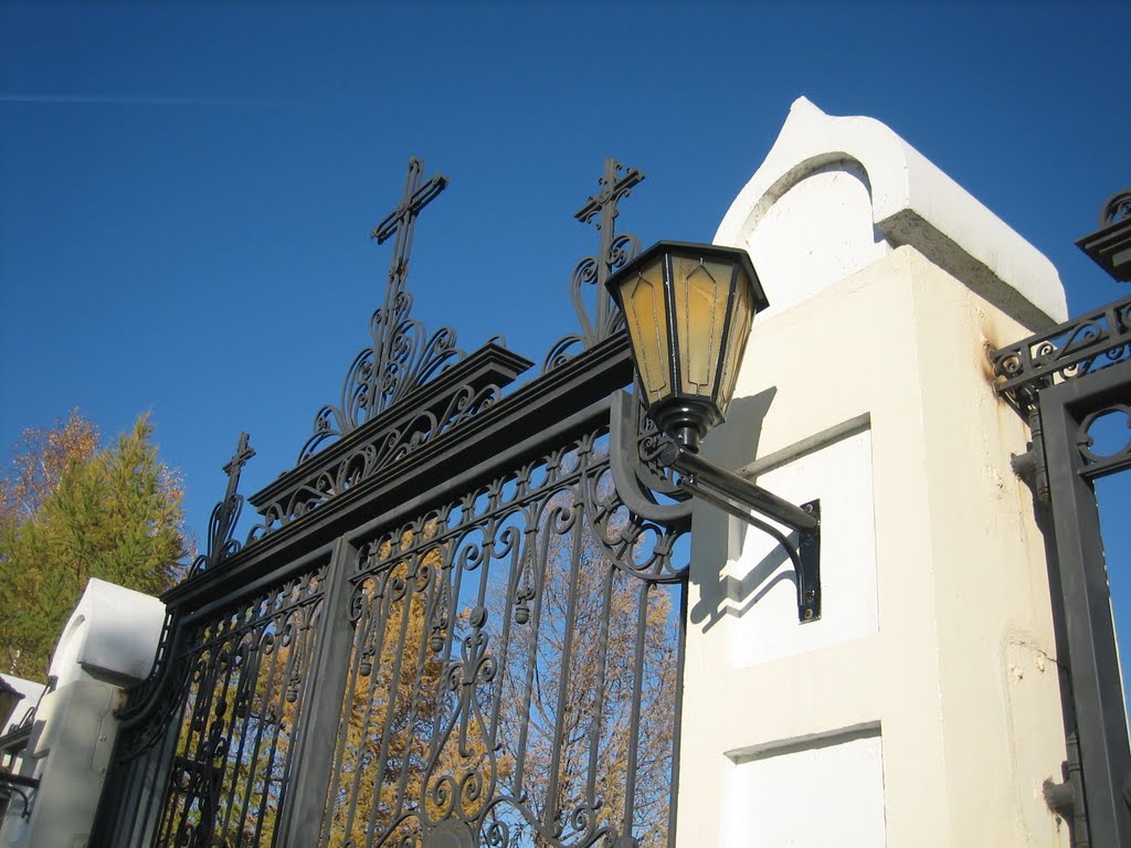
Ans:
POLYGON ((682 488, 770 534, 797 573, 797 615, 820 617, 820 516, 795 507, 699 456, 699 443, 726 419, 754 314, 769 302, 746 251, 657 242, 605 283, 624 313, 648 415, 671 442, 659 461, 682 488), (795 546, 751 512, 796 530, 795 546))

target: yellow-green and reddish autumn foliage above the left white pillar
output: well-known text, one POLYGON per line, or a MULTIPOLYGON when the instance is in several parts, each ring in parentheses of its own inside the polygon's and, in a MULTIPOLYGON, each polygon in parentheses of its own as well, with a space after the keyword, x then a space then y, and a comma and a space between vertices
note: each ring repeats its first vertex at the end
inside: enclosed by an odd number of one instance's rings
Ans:
POLYGON ((28 430, 0 479, 0 667, 43 678, 90 578, 158 594, 187 555, 178 477, 157 459, 140 416, 97 451, 77 410, 28 430))

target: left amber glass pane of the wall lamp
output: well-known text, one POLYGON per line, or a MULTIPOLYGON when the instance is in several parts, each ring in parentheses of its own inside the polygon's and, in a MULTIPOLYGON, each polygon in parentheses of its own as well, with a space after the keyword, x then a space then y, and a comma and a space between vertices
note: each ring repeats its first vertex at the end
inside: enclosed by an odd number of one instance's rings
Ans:
POLYGON ((663 257, 642 266, 621 284, 621 306, 628 325, 637 372, 649 406, 671 393, 667 363, 667 317, 664 309, 663 257))

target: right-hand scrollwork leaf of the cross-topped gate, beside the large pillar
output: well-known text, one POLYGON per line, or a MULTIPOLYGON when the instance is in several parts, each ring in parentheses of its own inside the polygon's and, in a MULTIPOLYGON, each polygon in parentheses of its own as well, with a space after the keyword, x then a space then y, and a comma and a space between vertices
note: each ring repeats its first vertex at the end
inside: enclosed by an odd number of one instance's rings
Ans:
POLYGON ((662 839, 666 804, 646 812, 633 793, 668 790, 663 586, 682 585, 673 544, 688 522, 625 507, 611 444, 584 432, 359 550, 323 838, 662 839))

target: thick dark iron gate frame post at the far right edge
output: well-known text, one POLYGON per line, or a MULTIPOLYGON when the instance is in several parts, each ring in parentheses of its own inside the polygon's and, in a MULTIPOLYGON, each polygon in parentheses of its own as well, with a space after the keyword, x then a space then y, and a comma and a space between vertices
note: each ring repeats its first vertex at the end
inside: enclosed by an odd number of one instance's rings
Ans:
MULTIPOLYGON (((1108 371, 1120 371, 1110 369, 1108 371)), ((1083 769, 1090 842, 1131 846, 1128 722, 1120 680, 1107 569, 1093 484, 1081 474, 1081 418, 1104 403, 1120 374, 1099 372, 1041 391, 1056 555, 1064 598, 1072 699, 1083 769)), ((1123 375, 1125 382, 1125 375, 1123 375)), ((1125 391, 1125 386, 1123 391, 1125 391)))

